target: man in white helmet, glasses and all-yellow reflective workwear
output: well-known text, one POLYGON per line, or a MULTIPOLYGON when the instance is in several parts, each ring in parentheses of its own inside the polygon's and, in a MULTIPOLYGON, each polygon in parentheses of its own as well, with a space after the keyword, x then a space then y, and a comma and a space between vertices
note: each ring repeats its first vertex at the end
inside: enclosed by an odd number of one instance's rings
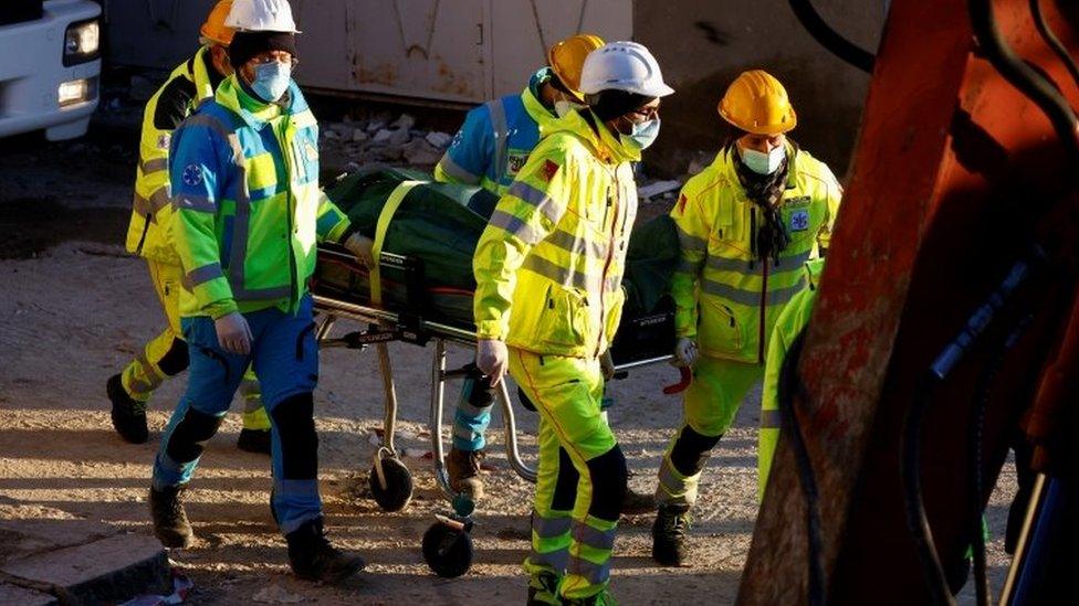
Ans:
POLYGON ((637 213, 630 163, 659 132, 660 97, 673 93, 633 42, 590 53, 580 91, 588 108, 549 125, 473 259, 476 364, 492 385, 509 372, 540 413, 530 604, 612 603, 627 470, 600 413, 600 358, 622 307, 637 213))

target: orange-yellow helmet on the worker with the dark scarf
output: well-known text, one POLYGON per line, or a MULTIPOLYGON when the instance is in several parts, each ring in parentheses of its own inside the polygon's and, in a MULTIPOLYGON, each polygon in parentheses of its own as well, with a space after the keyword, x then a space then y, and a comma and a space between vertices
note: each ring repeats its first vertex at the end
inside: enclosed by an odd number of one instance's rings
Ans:
POLYGON ((724 120, 755 135, 778 135, 798 125, 787 89, 764 70, 742 72, 717 109, 724 120))

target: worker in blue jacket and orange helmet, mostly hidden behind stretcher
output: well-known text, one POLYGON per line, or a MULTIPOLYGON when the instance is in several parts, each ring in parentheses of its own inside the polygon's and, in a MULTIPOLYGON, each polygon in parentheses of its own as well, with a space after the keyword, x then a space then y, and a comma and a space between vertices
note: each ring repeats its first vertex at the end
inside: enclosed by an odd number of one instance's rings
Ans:
MULTIPOLYGON (((548 65, 532 75, 520 95, 507 95, 469 111, 464 125, 434 167, 434 179, 448 183, 481 185, 502 195, 547 130, 573 107, 580 107, 578 91, 585 56, 604 43, 582 34, 563 40, 547 53, 548 65)), ((453 418, 453 440, 447 456, 450 487, 473 501, 483 496, 480 466, 484 432, 491 424, 490 389, 467 378, 453 418)))

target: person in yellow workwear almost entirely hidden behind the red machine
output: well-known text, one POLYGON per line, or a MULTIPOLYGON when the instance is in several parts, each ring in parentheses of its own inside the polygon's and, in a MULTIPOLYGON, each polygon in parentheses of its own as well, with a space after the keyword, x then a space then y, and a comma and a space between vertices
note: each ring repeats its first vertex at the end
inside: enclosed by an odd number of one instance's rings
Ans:
MULTIPOLYGON (((757 434, 757 500, 764 501, 764 488, 768 485, 772 458, 779 442, 779 381, 787 362, 787 353, 795 340, 809 323, 813 306, 817 302, 817 285, 824 269, 823 258, 805 264, 806 281, 809 287, 790 298, 783 312, 776 318, 768 340, 764 362, 764 387, 761 392, 761 432, 757 434)), ((792 360, 792 363, 796 363, 792 360)))

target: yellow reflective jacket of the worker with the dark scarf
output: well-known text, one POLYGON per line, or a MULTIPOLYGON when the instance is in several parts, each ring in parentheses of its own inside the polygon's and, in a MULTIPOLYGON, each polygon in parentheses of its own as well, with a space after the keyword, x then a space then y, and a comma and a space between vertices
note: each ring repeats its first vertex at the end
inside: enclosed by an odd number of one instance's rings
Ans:
POLYGON ((842 190, 827 166, 786 146, 789 169, 779 204, 790 243, 778 264, 751 254, 763 217, 738 182, 733 146, 685 183, 671 211, 681 245, 671 278, 675 331, 696 338, 704 355, 763 363, 775 319, 808 284, 803 265, 828 246, 842 190))

